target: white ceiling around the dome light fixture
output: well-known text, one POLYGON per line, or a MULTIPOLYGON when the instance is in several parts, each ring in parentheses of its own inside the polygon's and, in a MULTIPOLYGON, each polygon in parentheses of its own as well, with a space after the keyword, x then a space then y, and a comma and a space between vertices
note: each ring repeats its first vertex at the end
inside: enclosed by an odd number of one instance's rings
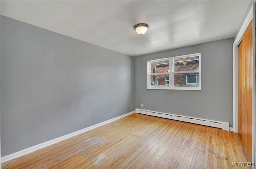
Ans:
POLYGON ((248 2, 1 0, 1 15, 139 56, 234 37, 248 2), (142 36, 138 23, 150 27, 142 36))

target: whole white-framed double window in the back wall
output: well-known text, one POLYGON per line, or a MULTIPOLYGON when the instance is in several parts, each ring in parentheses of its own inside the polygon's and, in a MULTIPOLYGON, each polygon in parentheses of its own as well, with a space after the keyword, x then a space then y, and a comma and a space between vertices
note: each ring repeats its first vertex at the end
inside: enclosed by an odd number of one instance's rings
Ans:
POLYGON ((148 89, 201 90, 201 53, 148 61, 148 89))

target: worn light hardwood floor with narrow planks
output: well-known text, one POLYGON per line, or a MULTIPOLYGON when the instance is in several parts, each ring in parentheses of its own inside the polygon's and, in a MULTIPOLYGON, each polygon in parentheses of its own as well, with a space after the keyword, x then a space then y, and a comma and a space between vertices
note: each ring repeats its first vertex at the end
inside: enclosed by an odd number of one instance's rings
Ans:
POLYGON ((131 114, 7 161, 2 168, 246 168, 232 166, 232 162, 247 162, 240 147, 233 132, 131 114))

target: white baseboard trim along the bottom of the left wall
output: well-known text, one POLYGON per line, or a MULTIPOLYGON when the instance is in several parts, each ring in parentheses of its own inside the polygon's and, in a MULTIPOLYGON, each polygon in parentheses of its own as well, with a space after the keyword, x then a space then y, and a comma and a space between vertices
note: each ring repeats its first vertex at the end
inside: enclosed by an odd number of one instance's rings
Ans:
POLYGON ((76 132, 72 132, 72 133, 70 133, 70 134, 66 134, 66 135, 64 135, 64 136, 55 138, 55 139, 53 139, 53 140, 49 140, 49 141, 46 141, 46 142, 44 142, 44 143, 40 143, 40 144, 38 144, 38 145, 34 145, 34 146, 32 146, 32 147, 23 149, 23 150, 18 151, 18 152, 16 152, 16 153, 12 153, 12 154, 6 155, 6 156, 4 156, 4 157, 1 157, 1 163, 4 163, 4 162, 9 161, 9 160, 11 160, 11 159, 15 159, 15 158, 20 157, 20 156, 22 156, 22 155, 26 155, 26 154, 28 154, 28 153, 32 153, 32 152, 34 152, 34 151, 36 151, 36 150, 38 150, 38 149, 42 149, 42 148, 44 148, 44 147, 47 147, 47 146, 49 146, 49 145, 58 143, 58 142, 60 142, 60 141, 62 141, 62 140, 66 140, 66 139, 71 138, 71 137, 73 137, 73 136, 76 136, 76 135, 78 135, 78 134, 82 134, 82 133, 87 132, 87 131, 89 131, 89 130, 92 130, 92 129, 94 129, 94 128, 100 127, 100 126, 102 126, 102 125, 104 125, 104 124, 108 124, 108 123, 110 123, 110 122, 113 122, 113 121, 115 121, 115 120, 118 120, 118 119, 120 119, 120 118, 123 118, 123 117, 125 117, 125 116, 128 116, 128 115, 130 115, 130 114, 133 114, 134 112, 135 112, 135 111, 132 111, 132 112, 123 114, 123 115, 121 115, 121 116, 118 116, 118 117, 116 117, 116 118, 112 118, 112 119, 107 120, 107 121, 105 121, 105 122, 101 122, 101 123, 95 124, 95 125, 93 125, 93 126, 90 126, 90 127, 87 127, 87 128, 81 129, 81 130, 78 130, 78 131, 76 131, 76 132))

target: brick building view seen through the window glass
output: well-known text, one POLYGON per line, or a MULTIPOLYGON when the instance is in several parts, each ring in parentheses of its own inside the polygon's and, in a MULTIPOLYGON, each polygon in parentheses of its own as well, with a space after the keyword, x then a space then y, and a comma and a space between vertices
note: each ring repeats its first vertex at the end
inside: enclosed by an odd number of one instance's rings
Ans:
MULTIPOLYGON (((169 60, 151 63, 151 73, 166 73, 151 75, 151 85, 169 86, 169 60)), ((185 57, 174 59, 174 86, 198 86, 198 73, 184 73, 184 71, 199 70, 199 58, 185 57), (179 73, 182 72, 182 73, 179 73)))

